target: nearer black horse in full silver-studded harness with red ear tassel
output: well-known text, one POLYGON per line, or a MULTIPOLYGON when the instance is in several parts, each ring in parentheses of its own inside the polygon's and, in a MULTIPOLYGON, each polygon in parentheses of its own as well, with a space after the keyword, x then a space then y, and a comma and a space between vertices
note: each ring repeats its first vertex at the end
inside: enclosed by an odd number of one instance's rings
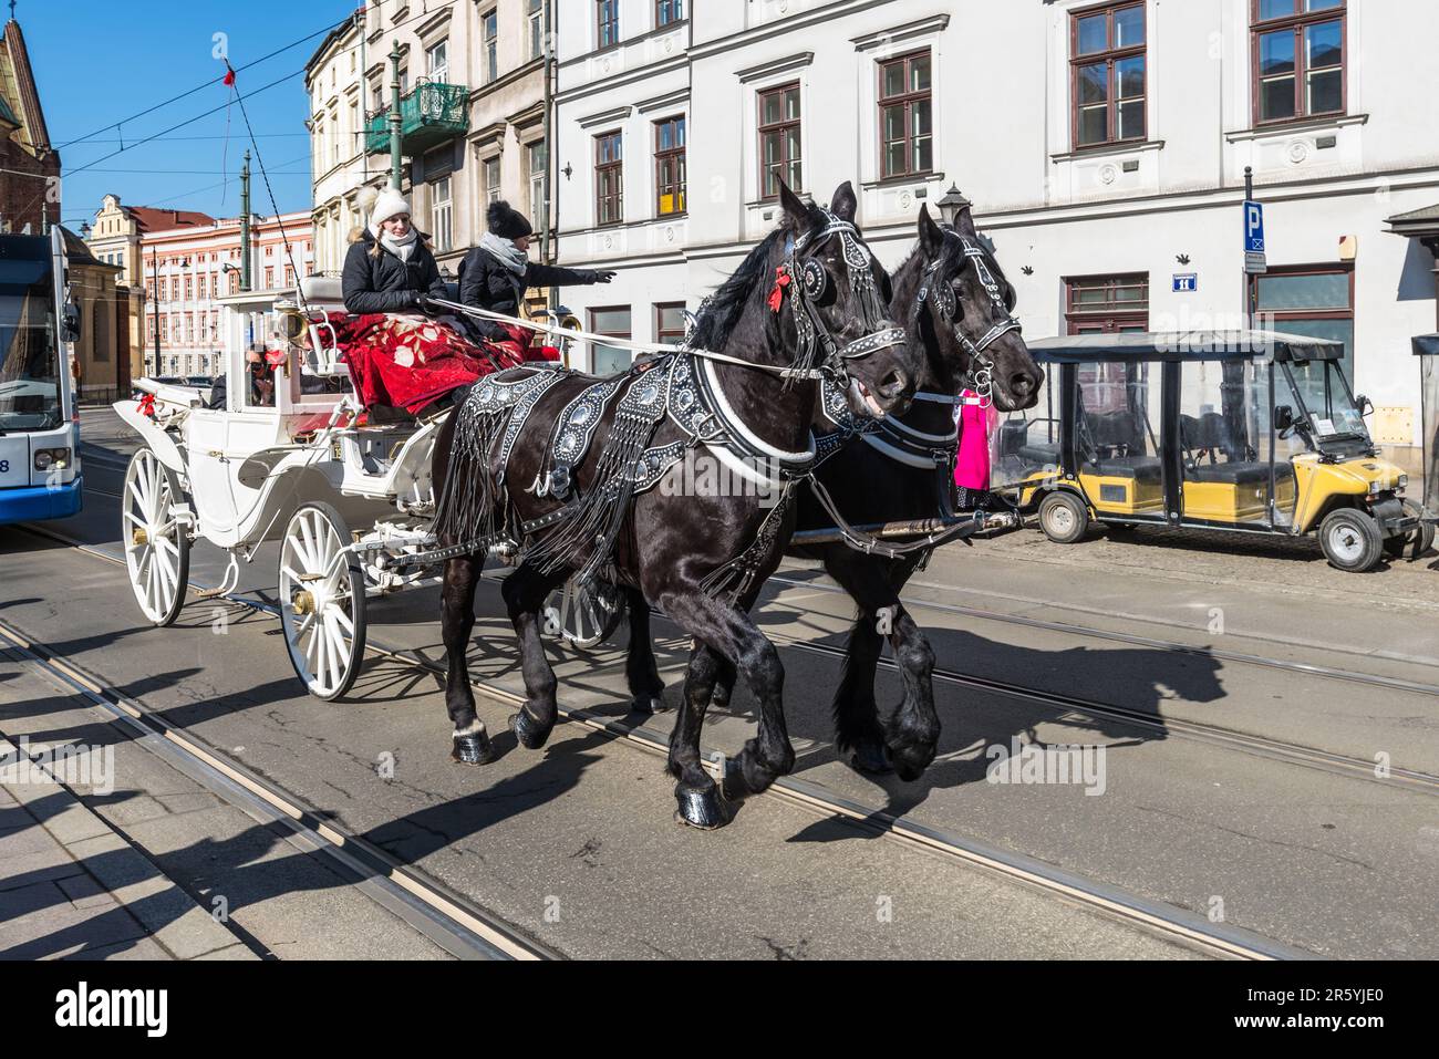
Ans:
POLYGON ((521 563, 502 594, 527 691, 509 719, 522 745, 544 745, 557 712, 540 636, 543 601, 574 571, 586 580, 610 567, 619 584, 662 607, 696 645, 669 754, 681 819, 698 827, 728 820, 699 758, 717 678, 743 673, 761 706, 758 735, 735 758, 727 797, 761 791, 791 768, 783 666, 747 612, 778 565, 793 504, 768 504, 755 488, 686 495, 650 486, 686 453, 701 453, 743 463, 751 479, 755 466, 766 468, 760 476, 789 496, 813 463, 819 380, 837 381, 856 416, 884 416, 908 407, 920 365, 885 318, 888 275, 853 226, 849 183, 827 210, 783 186, 780 199, 781 224, 702 309, 692 351, 604 380, 498 373, 481 380, 440 430, 435 528, 440 545, 459 553, 446 561, 442 590, 455 760, 484 764, 492 755, 465 650, 486 550, 514 541, 521 563))

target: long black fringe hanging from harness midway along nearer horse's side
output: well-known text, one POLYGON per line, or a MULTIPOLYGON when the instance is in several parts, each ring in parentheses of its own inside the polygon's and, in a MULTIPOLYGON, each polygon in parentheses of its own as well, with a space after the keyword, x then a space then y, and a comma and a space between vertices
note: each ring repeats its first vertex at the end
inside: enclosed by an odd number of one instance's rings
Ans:
POLYGON ((665 412, 665 373, 652 374, 655 378, 639 376, 620 399, 589 492, 554 530, 521 554, 541 574, 570 565, 590 547, 593 551, 574 578, 578 584, 587 584, 609 563, 635 499, 636 465, 665 412), (649 400, 643 400, 646 396, 649 400))

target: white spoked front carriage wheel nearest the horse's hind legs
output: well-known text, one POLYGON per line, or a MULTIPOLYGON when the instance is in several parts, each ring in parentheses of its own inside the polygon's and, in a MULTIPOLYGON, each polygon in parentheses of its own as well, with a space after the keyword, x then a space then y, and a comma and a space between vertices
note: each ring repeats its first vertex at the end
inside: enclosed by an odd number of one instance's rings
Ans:
POLYGON ((364 573, 344 554, 350 531, 328 504, 305 504, 279 553, 279 623, 289 663, 309 694, 337 699, 364 659, 364 573))

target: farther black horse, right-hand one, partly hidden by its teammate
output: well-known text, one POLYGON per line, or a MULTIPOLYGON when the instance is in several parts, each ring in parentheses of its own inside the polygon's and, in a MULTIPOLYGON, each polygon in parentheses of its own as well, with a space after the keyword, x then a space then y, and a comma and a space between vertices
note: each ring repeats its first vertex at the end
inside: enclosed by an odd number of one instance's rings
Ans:
MULTIPOLYGON (((918 245, 894 275, 889 304, 920 355, 920 393, 909 413, 898 416, 898 426, 891 420, 888 430, 868 437, 850 433, 843 447, 814 469, 845 521, 865 525, 948 514, 953 409, 961 387, 989 391, 1002 412, 1027 409, 1039 400, 1043 376, 1019 337, 1013 306, 1014 288, 980 240, 970 209, 960 212, 953 229, 941 229, 921 209, 918 245)), ((817 407, 814 429, 835 430, 832 417, 833 410, 817 407)), ((833 525, 835 518, 816 492, 802 488, 796 530, 833 525)), ((934 650, 899 601, 899 591, 930 553, 881 551, 859 551, 843 542, 790 547, 793 555, 822 561, 859 609, 833 702, 836 745, 850 751, 850 765, 861 771, 898 771, 915 780, 934 760, 940 740, 934 650), (904 699, 882 718, 875 704, 875 669, 886 637, 904 681, 904 699)), ((649 610, 635 596, 629 604, 627 673, 635 708, 646 712, 661 706, 662 683, 649 639, 649 610)), ((715 683, 711 699, 721 706, 734 686, 732 673, 725 676, 715 683)), ((686 688, 686 704, 688 698, 686 688)), ((675 738, 681 738, 682 727, 676 725, 675 738)))

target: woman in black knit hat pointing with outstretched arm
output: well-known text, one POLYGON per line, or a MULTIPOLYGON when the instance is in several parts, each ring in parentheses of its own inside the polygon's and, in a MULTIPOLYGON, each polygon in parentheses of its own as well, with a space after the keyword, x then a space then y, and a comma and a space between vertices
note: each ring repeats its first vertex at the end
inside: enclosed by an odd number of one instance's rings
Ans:
MULTIPOLYGON (((603 269, 561 269, 538 265, 527 256, 534 229, 524 214, 509 209, 509 203, 489 204, 489 232, 479 246, 465 255, 459 266, 459 299, 507 317, 519 315, 519 302, 531 286, 567 286, 576 283, 607 283, 614 273, 603 269)), ((505 328, 492 319, 476 319, 475 327, 486 337, 504 340, 505 328)))

